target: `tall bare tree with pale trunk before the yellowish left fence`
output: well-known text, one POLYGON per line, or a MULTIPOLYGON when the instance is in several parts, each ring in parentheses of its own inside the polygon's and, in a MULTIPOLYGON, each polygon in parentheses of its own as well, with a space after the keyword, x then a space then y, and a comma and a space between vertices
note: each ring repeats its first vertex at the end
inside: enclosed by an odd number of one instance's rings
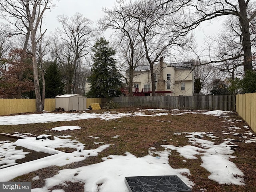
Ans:
POLYGON ((0 6, 4 18, 26 35, 23 53, 26 52, 28 40, 31 40, 31 55, 36 93, 36 110, 42 111, 38 65, 36 62, 36 32, 44 12, 52 6, 51 0, 2 0, 0 6), (25 28, 25 30, 23 30, 25 28))

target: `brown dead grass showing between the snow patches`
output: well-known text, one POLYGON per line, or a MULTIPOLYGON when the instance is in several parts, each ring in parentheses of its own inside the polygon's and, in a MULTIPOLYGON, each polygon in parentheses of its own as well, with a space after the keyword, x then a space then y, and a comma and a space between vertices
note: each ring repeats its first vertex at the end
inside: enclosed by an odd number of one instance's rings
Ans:
MULTIPOLYGON (((102 113, 106 110, 98 110, 93 112, 102 113)), ((136 108, 122 108, 112 110, 115 112, 138 112, 136 108)), ((92 111, 91 111, 92 112, 92 111)), ((154 112, 147 112, 154 114, 154 112)), ((238 114, 230 113, 228 119, 242 120, 238 114)), ((37 170, 30 174, 26 174, 15 178, 13 181, 31 181, 34 176, 40 175, 40 178, 49 178, 57 174, 58 170, 66 168, 77 168, 101 162, 101 158, 108 155, 124 155, 126 151, 134 154, 135 156, 142 157, 148 154, 148 148, 156 147, 157 150, 164 150, 161 145, 174 145, 185 146, 190 144, 186 134, 175 135, 176 132, 211 132, 217 136, 214 142, 216 144, 222 143, 224 138, 232 138, 240 140, 241 134, 244 134, 245 129, 243 126, 245 122, 235 121, 234 123, 224 121, 212 115, 204 114, 183 114, 182 116, 166 115, 166 116, 136 116, 126 117, 111 121, 100 119, 86 119, 76 120, 70 122, 53 122, 45 124, 25 124, 13 126, 0 126, 1 132, 14 133, 14 132, 27 132, 34 135, 51 134, 51 135, 71 135, 73 139, 84 143, 85 149, 97 148, 101 144, 94 144, 95 142, 104 142, 104 144, 113 144, 96 157, 86 158, 84 161, 72 163, 64 167, 51 166, 42 170, 37 170), (82 129, 73 131, 53 131, 50 130, 56 126, 80 126, 82 129), (236 135, 224 135, 223 132, 230 131, 228 127, 237 126, 242 129, 236 130, 236 135), (46 131, 47 130, 47 131, 46 131), (118 138, 113 136, 119 135, 118 138), (100 138, 94 139, 89 136, 98 136, 100 138), (163 141, 166 140, 166 141, 163 141)), ((253 132, 251 129, 248 130, 253 132)), ((255 134, 255 133, 254 133, 255 134)), ((211 140, 211 138, 204 138, 211 140)), ((190 180, 195 183, 193 192, 198 192, 200 189, 206 189, 207 192, 255 192, 255 175, 256 175, 256 147, 255 143, 245 144, 244 142, 235 142, 238 148, 234 151, 234 156, 237 158, 231 159, 236 166, 244 172, 245 186, 225 185, 218 184, 208 179, 210 175, 204 168, 200 166, 202 163, 200 156, 195 160, 187 160, 182 162, 185 158, 179 156, 176 151, 172 152, 169 156, 169 163, 172 168, 188 168, 191 176, 190 180)), ((65 152, 72 152, 69 148, 64 148, 65 152)), ((32 181, 32 188, 44 186, 44 180, 32 181)), ((68 188, 63 188, 65 192, 83 191, 83 184, 70 184, 68 188)), ((56 186, 53 189, 60 189, 61 186, 56 186)), ((52 189, 52 190, 53 190, 52 189)))

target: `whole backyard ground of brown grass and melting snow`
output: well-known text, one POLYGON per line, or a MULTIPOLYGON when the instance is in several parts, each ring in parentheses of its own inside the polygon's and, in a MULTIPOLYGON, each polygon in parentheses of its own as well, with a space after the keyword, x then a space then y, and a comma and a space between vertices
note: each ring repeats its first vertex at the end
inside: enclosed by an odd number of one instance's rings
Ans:
POLYGON ((128 192, 124 177, 157 175, 193 191, 256 190, 256 136, 234 112, 42 113, 1 116, 0 125, 24 137, 0 141, 0 181, 31 181, 33 192, 128 192), (16 146, 51 156, 16 164, 27 154, 16 146))

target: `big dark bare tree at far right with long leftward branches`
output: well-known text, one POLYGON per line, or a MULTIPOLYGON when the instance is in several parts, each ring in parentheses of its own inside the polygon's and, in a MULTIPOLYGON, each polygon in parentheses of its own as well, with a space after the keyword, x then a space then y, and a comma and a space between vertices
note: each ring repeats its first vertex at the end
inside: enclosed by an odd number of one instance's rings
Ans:
POLYGON ((187 30, 194 29, 202 22, 221 16, 232 15, 237 17, 241 31, 239 36, 242 52, 235 56, 222 60, 212 60, 211 62, 224 62, 242 57, 244 71, 253 69, 250 26, 255 21, 256 5, 252 0, 160 0, 160 2, 163 7, 176 6, 179 9, 183 22, 175 22, 174 24, 187 30))

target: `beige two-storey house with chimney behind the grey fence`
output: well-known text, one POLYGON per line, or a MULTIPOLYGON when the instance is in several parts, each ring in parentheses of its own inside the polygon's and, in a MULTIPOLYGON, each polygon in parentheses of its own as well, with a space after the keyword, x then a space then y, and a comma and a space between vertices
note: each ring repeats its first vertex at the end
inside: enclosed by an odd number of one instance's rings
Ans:
MULTIPOLYGON (((154 66, 156 96, 191 96, 194 93, 193 63, 167 64, 163 58, 154 66)), ((134 71, 134 96, 152 96, 150 66, 138 66, 134 71)))

